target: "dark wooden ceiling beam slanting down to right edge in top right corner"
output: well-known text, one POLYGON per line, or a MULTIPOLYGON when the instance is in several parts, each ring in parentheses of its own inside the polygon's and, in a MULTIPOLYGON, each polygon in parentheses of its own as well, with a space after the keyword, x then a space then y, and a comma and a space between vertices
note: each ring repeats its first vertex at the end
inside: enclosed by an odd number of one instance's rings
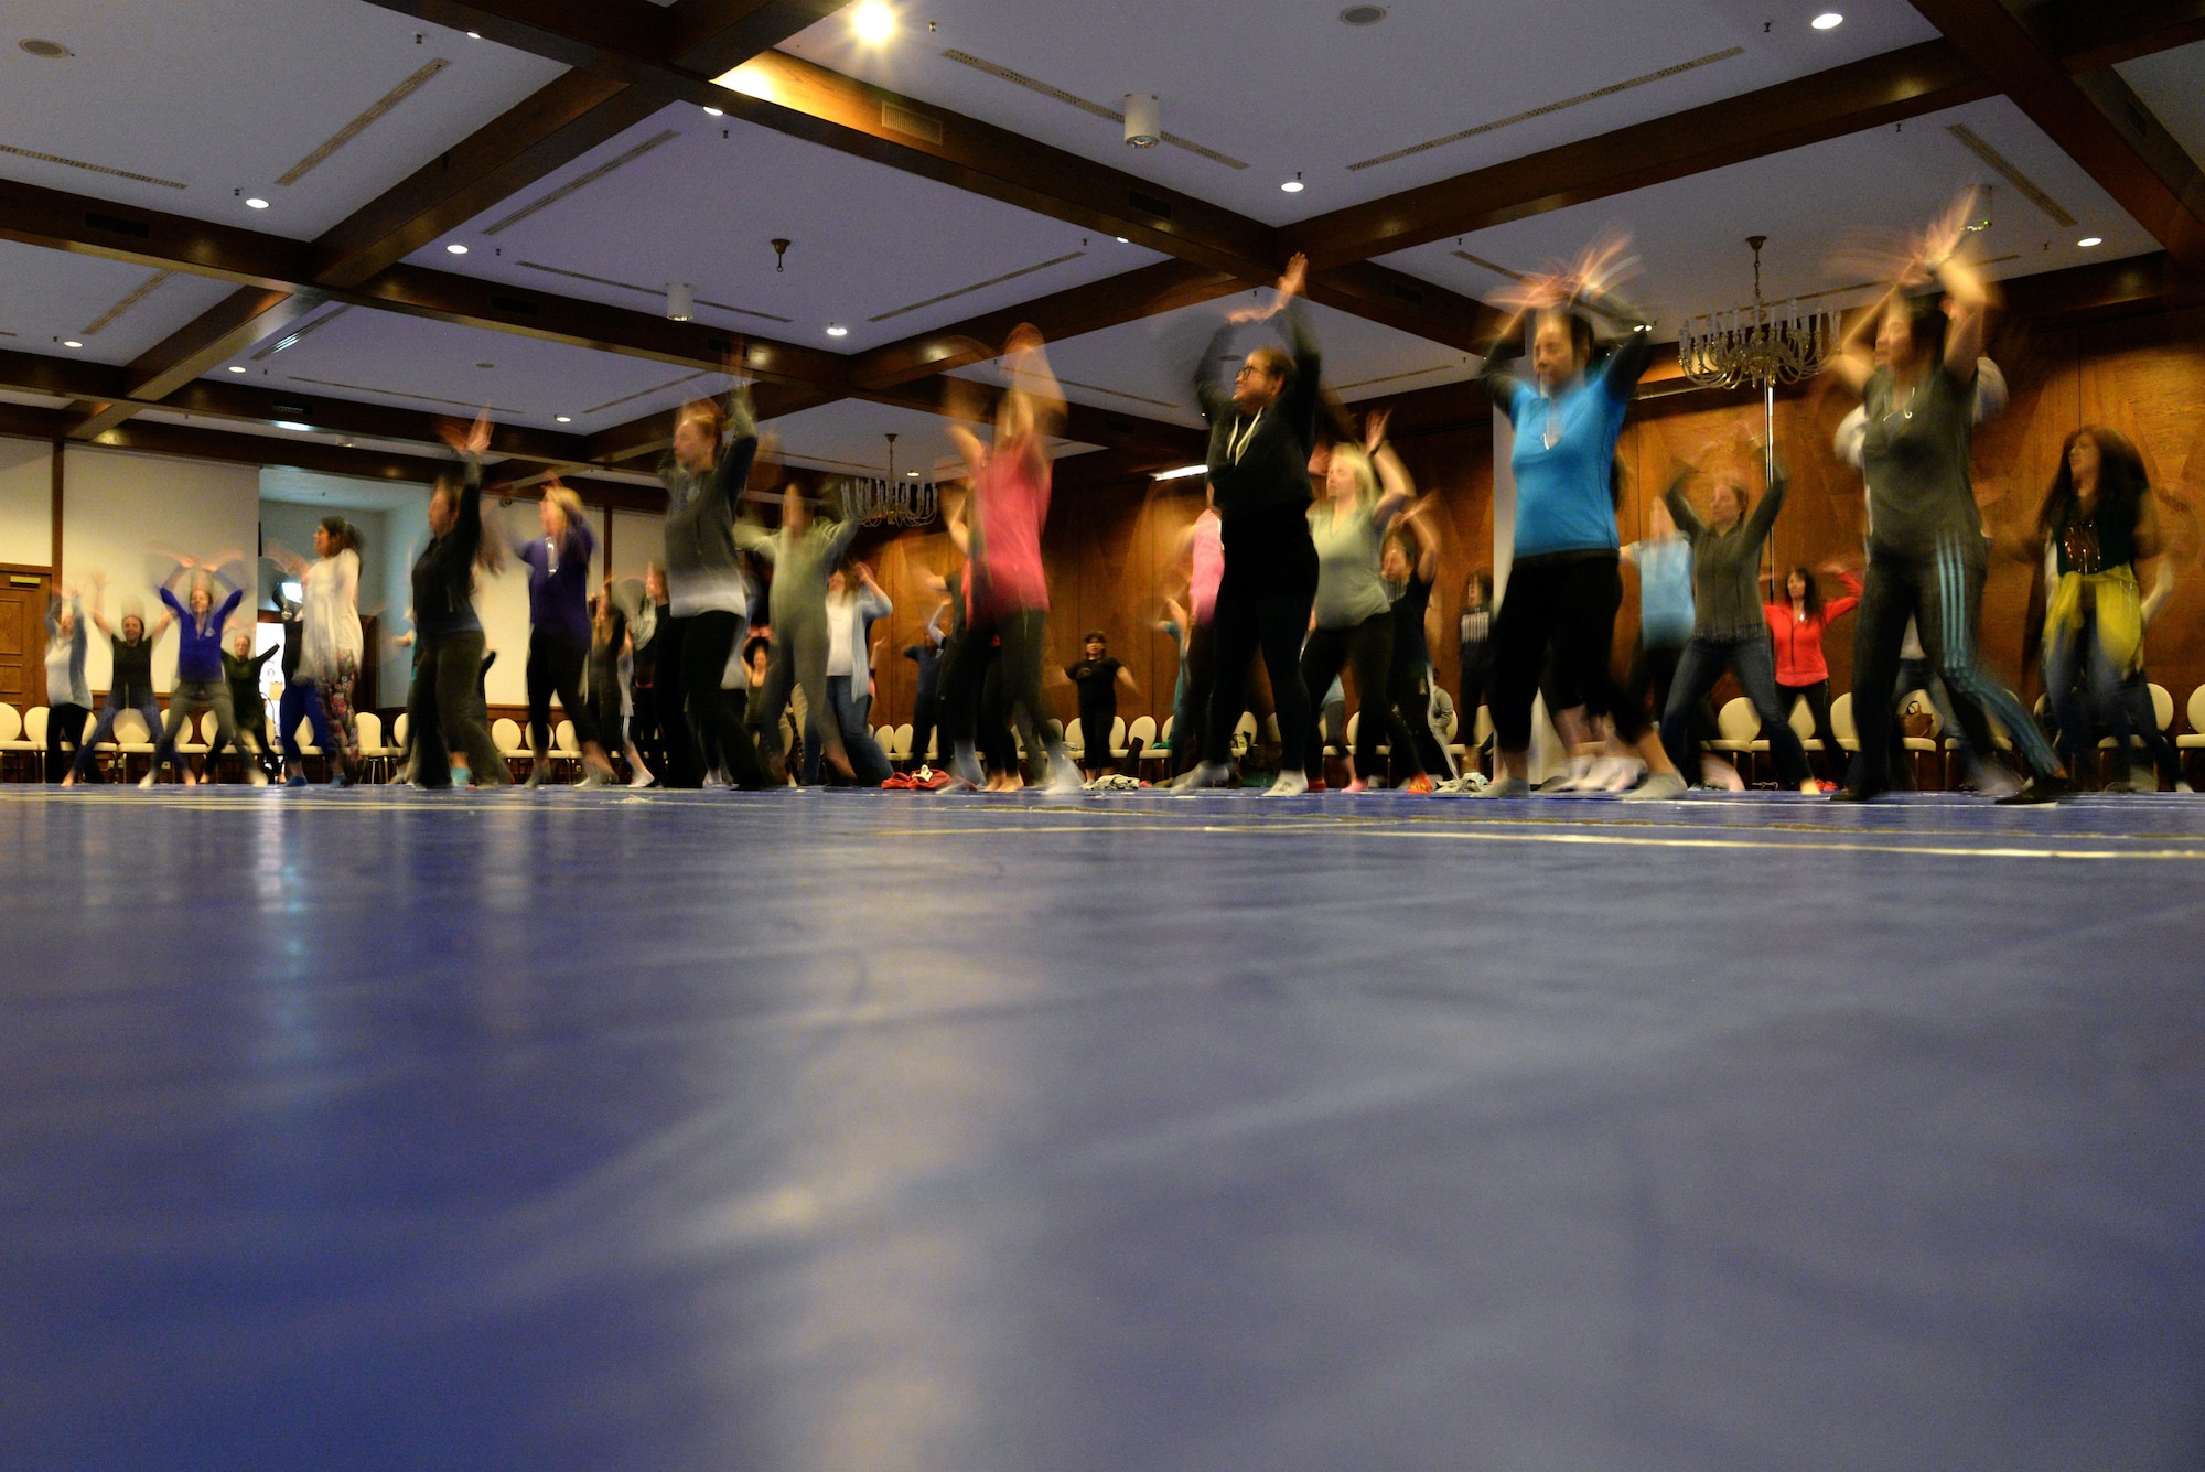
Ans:
POLYGON ((1912 0, 1998 90, 2095 178, 2168 256, 2205 271, 2205 181, 2159 119, 2112 73, 2093 86, 2068 75, 2051 46, 2000 0, 1912 0), (2168 176, 2172 174, 2172 176, 2168 176))

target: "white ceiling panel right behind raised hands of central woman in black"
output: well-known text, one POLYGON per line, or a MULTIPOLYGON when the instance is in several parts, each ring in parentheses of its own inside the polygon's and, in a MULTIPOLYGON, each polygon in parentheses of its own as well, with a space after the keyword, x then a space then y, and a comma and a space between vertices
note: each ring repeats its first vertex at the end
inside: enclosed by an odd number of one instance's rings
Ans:
MULTIPOLYGON (((1193 375, 1211 333, 1237 306, 1270 300, 1270 291, 1202 306, 1182 306, 1160 317, 1125 322, 1050 344, 1050 366, 1074 403, 1120 414, 1200 425, 1193 375)), ((1316 344, 1323 350, 1325 383, 1356 403, 1380 394, 1460 383, 1477 372, 1477 359, 1409 333, 1398 333, 1343 311, 1305 302, 1316 344)), ((1235 353, 1259 342, 1281 342, 1274 326, 1252 326, 1235 339, 1235 353)), ((997 361, 959 368, 955 377, 999 383, 997 361)))

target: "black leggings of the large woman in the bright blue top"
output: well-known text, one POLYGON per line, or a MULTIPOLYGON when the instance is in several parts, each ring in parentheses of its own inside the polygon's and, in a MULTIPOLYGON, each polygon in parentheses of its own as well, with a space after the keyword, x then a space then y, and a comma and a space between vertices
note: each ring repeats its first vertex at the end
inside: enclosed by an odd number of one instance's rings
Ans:
MULTIPOLYGON (((1530 701, 1555 648, 1555 683, 1583 703, 1588 718, 1614 710, 1607 648, 1616 637, 1623 577, 1616 553, 1526 558, 1508 573, 1508 595, 1493 615, 1493 745, 1530 747, 1530 701)), ((1548 712, 1550 716, 1561 712, 1548 712)))

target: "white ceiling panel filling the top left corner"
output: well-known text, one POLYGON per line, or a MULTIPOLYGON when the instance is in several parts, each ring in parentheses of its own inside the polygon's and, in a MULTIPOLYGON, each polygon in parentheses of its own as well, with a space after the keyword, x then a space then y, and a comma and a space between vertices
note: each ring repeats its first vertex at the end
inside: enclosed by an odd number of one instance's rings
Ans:
POLYGON ((298 240, 564 71, 359 0, 9 0, 4 15, 0 176, 298 240))

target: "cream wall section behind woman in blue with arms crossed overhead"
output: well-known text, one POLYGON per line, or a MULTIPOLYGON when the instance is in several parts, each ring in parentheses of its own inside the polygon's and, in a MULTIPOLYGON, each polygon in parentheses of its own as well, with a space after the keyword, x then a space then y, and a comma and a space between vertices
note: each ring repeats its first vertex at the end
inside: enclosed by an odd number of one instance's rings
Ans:
MULTIPOLYGON (((243 551, 254 575, 260 527, 260 469, 157 454, 71 445, 62 461, 62 582, 90 599, 93 571, 108 575, 108 619, 123 610, 148 619, 161 610, 154 591, 170 571, 157 549, 192 558, 243 551)), ((51 555, 51 535, 49 535, 51 555)), ((251 621, 256 586, 245 588, 240 617, 251 621)), ((93 690, 108 685, 108 641, 93 639, 84 661, 93 690)), ((176 674, 176 635, 163 635, 152 683, 168 690, 176 674)))

